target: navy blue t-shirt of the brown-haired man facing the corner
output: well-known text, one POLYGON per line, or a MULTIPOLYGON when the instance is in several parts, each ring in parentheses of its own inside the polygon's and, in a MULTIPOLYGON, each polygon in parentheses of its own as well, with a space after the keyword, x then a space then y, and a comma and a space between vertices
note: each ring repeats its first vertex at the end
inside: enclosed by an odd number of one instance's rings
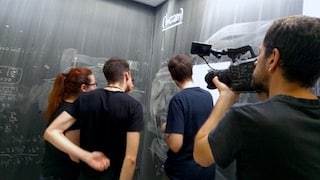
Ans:
MULTIPOLYGON (((168 161, 185 160, 192 157, 194 136, 204 123, 213 107, 211 94, 200 87, 185 88, 175 94, 169 104, 166 133, 183 134, 183 144, 179 152, 168 150, 168 161), (173 108, 175 107, 175 109, 173 108), (177 110, 178 109, 178 110, 177 110), (183 115, 183 124, 175 126, 177 116, 183 115), (171 124, 172 123, 172 124, 171 124)), ((179 122, 182 123, 182 122, 179 122)))

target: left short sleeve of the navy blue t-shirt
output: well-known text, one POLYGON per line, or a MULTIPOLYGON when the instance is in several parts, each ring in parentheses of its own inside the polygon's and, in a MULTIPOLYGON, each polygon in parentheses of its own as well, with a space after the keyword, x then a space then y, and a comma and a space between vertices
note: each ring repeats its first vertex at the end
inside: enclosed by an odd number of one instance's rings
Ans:
POLYGON ((177 97, 173 97, 169 103, 165 133, 184 134, 184 113, 177 97))

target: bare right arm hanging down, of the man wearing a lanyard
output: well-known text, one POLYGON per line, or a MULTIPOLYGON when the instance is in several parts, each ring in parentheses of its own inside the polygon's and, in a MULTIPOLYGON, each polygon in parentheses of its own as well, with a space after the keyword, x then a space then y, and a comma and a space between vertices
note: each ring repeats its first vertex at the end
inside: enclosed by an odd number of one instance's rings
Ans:
POLYGON ((121 168, 120 180, 132 179, 139 151, 140 132, 127 133, 126 154, 121 168))

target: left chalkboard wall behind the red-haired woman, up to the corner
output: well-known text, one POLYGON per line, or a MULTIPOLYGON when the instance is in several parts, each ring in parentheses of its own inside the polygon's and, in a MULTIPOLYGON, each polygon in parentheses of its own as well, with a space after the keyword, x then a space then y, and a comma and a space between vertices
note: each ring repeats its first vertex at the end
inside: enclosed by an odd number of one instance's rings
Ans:
POLYGON ((146 104, 155 9, 131 1, 0 1, 0 180, 39 179, 43 110, 58 72, 129 59, 146 104))

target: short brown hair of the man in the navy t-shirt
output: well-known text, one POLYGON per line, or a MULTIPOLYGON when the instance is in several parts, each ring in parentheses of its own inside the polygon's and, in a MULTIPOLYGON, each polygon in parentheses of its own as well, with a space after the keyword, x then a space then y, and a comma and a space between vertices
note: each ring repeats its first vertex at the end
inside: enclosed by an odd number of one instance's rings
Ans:
POLYGON ((192 78, 192 61, 189 56, 184 54, 170 58, 168 70, 172 79, 179 82, 192 78))

